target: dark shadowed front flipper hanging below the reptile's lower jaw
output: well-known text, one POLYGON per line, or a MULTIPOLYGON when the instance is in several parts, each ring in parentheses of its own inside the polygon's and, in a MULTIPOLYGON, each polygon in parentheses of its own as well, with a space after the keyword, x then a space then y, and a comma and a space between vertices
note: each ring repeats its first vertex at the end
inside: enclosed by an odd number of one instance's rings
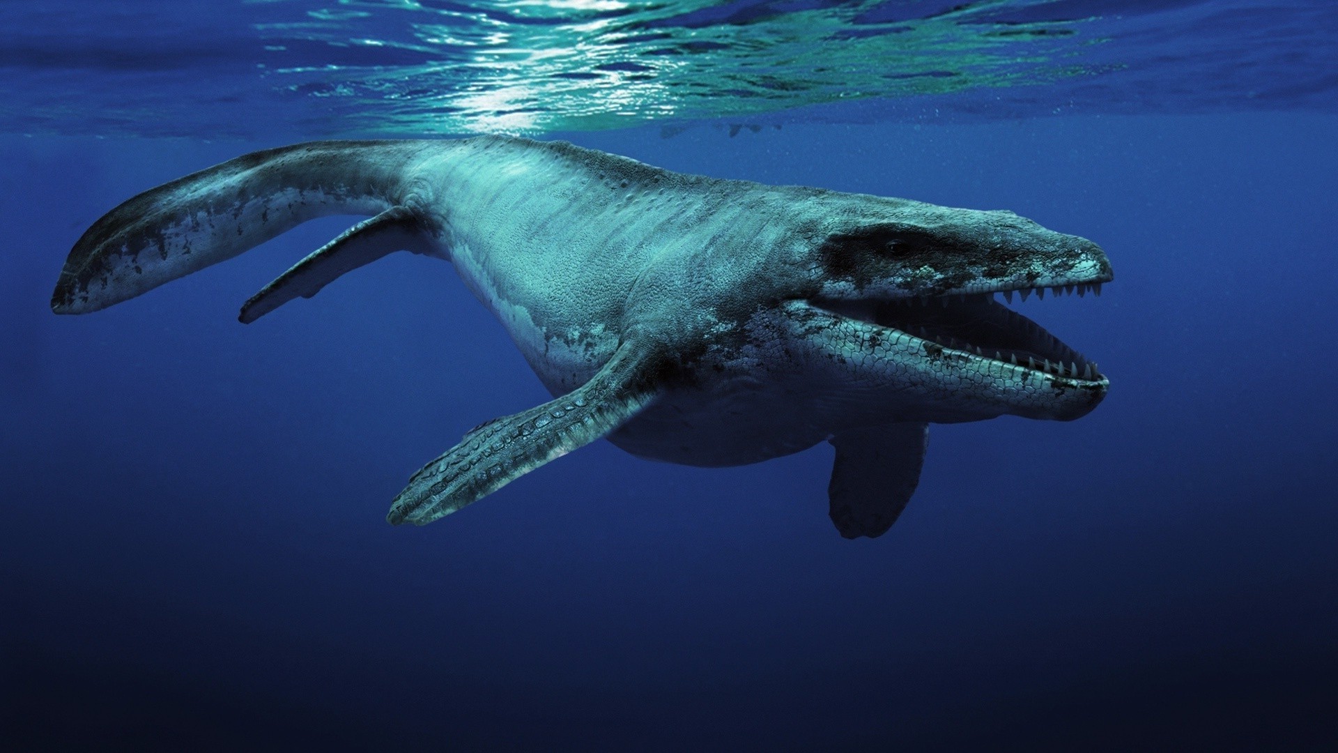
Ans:
POLYGON ((896 523, 919 484, 927 423, 887 423, 842 431, 827 486, 831 519, 846 539, 882 536, 896 523))

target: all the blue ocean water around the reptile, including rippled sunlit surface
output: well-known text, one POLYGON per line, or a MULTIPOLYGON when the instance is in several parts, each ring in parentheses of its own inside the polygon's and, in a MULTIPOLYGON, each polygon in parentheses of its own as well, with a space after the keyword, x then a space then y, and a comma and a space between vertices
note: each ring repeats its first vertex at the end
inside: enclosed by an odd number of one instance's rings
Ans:
POLYGON ((0 748, 1338 745, 1335 5, 63 0, 0 29, 0 748), (474 133, 1089 237, 1101 297, 1016 308, 1109 397, 934 426, 875 540, 827 519, 827 445, 597 442, 392 528, 409 473, 547 399, 448 264, 238 324, 329 217, 48 308, 140 190, 474 133))

